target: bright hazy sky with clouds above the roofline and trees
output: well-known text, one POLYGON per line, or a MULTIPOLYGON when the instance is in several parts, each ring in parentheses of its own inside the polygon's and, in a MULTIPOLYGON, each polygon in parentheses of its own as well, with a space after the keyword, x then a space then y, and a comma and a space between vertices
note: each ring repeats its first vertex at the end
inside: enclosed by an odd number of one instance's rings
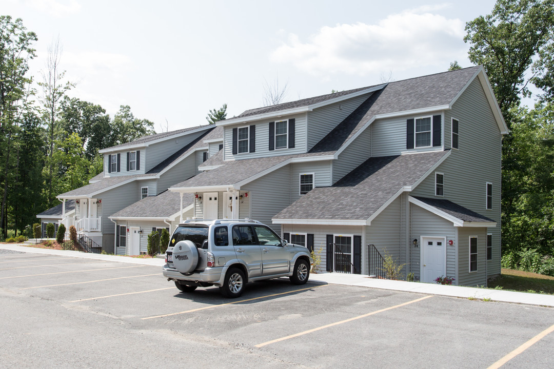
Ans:
POLYGON ((111 117, 129 105, 162 132, 263 106, 265 85, 294 101, 471 66, 465 23, 494 3, 0 0, 0 15, 37 34, 35 80, 59 38, 68 96, 111 117))

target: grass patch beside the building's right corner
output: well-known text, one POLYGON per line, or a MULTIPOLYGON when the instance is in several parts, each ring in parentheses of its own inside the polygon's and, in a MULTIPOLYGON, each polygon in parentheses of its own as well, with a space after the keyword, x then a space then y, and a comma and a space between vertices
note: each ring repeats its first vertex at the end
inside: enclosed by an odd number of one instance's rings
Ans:
POLYGON ((554 295, 554 277, 502 269, 501 276, 490 282, 489 288, 554 295))

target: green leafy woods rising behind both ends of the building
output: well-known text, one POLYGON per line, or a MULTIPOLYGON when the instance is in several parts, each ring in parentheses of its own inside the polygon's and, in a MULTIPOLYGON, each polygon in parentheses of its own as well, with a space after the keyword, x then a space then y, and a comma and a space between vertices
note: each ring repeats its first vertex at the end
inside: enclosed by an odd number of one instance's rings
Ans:
MULTIPOLYGON (((502 141, 502 266, 554 275, 554 0, 498 0, 465 30, 469 60, 484 66, 509 128, 502 141)), ((36 41, 21 19, 0 17, 0 237, 23 232, 36 214, 59 204, 56 195, 100 173, 99 149, 155 133, 129 106, 110 117, 69 97, 78 86, 59 70, 59 42, 34 90, 28 61, 36 41)), ((207 120, 224 115, 214 109, 207 120)))

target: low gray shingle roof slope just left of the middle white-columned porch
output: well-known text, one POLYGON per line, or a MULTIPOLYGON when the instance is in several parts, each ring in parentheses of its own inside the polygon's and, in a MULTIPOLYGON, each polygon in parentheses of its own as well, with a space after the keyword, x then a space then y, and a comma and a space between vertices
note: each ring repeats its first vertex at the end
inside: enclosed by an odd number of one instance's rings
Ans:
MULTIPOLYGON (((112 217, 167 218, 181 210, 181 194, 164 191, 157 196, 146 198, 112 214, 112 217)), ((183 194, 183 207, 192 204, 193 194, 183 194)))

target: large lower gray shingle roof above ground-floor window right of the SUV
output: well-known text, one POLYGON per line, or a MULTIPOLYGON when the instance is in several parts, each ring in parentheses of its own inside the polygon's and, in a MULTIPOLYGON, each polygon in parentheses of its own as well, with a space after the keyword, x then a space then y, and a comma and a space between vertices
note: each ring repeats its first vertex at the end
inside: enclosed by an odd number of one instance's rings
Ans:
POLYGON ((330 187, 316 187, 275 219, 366 220, 448 151, 370 158, 330 187))

